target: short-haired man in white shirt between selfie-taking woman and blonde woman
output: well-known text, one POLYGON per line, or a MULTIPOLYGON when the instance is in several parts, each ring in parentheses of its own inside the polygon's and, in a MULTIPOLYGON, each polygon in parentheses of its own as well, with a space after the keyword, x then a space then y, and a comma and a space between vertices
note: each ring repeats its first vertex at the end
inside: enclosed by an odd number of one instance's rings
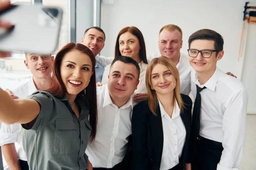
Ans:
POLYGON ((139 84, 140 67, 131 57, 116 57, 108 77, 108 84, 97 87, 97 134, 85 153, 93 170, 125 170, 132 109, 136 104, 132 97, 139 84))

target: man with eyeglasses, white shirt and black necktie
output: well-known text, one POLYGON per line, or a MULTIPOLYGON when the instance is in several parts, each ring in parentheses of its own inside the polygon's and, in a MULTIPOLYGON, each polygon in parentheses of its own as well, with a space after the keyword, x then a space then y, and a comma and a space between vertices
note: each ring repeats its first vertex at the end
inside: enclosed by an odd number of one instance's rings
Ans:
POLYGON ((192 170, 238 170, 243 155, 248 94, 239 79, 217 68, 223 44, 209 29, 189 37, 192 170))

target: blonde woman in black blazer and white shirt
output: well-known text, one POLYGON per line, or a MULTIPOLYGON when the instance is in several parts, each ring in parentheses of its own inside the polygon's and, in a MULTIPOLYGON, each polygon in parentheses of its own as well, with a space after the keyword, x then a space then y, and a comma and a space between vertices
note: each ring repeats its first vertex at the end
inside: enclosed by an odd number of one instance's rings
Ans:
POLYGON ((164 56, 154 58, 145 79, 148 100, 132 115, 132 170, 191 170, 192 101, 180 94, 175 64, 164 56))

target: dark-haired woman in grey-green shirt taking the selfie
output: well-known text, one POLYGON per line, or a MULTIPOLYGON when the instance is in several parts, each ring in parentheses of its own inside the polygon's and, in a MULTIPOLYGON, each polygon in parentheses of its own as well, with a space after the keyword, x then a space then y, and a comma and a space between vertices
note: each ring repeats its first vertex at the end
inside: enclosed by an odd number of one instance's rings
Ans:
POLYGON ((93 53, 82 44, 68 43, 55 57, 48 89, 17 100, 0 89, 0 121, 21 123, 26 129, 23 147, 29 168, 87 168, 84 152, 96 136, 95 83, 93 53))

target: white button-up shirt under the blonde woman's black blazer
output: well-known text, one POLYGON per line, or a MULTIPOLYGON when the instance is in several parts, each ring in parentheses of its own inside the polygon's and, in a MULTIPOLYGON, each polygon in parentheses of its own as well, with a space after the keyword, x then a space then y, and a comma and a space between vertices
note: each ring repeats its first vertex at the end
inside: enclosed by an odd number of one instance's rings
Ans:
POLYGON ((163 153, 160 170, 169 170, 179 164, 185 144, 186 129, 180 117, 180 108, 175 99, 172 118, 166 113, 158 99, 163 125, 163 153))

